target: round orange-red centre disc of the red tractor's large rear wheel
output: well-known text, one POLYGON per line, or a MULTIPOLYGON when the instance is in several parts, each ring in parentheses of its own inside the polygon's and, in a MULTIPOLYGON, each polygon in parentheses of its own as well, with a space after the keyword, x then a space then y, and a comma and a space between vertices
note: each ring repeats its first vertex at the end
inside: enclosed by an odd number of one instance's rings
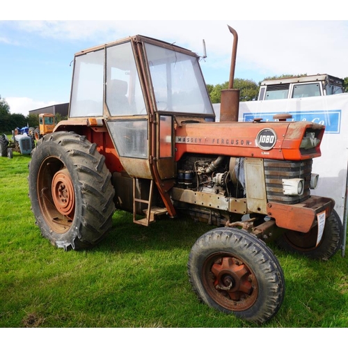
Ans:
POLYGON ((69 216, 74 211, 74 186, 67 168, 58 171, 52 180, 52 197, 58 212, 69 216))

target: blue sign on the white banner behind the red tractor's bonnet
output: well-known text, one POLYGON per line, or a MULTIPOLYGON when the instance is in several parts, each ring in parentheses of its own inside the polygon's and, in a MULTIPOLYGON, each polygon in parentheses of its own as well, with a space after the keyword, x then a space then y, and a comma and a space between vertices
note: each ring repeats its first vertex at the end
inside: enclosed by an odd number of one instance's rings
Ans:
POLYGON ((319 123, 325 126, 326 133, 340 134, 342 110, 243 113, 243 121, 253 122, 254 118, 262 118, 265 122, 274 121, 273 116, 277 113, 290 113, 290 115, 292 115, 292 121, 319 123))

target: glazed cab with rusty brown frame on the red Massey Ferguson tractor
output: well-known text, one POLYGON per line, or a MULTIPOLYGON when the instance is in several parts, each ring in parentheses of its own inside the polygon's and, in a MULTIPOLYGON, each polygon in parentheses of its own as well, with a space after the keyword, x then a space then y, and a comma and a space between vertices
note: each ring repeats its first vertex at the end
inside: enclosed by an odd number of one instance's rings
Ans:
POLYGON ((125 171, 151 184, 155 180, 170 205, 166 191, 177 169, 174 128, 215 118, 198 60, 188 49, 141 35, 75 54, 64 129, 84 122, 106 127, 122 168, 100 145, 107 140, 93 141, 111 173, 125 171))

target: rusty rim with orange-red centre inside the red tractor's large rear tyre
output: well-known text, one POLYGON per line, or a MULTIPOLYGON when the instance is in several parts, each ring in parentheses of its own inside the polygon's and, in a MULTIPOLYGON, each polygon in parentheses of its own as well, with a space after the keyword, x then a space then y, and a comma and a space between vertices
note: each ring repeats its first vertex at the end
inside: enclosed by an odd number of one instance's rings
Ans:
POLYGON ((57 157, 42 161, 37 178, 38 200, 49 228, 65 233, 74 219, 75 194, 72 178, 57 157))

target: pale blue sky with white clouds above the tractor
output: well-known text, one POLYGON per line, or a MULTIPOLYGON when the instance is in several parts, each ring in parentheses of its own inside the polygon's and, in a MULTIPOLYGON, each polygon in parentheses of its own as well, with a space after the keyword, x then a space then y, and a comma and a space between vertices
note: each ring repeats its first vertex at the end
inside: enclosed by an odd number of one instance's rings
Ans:
POLYGON ((200 56, 205 40, 207 57, 201 59, 200 66, 207 84, 223 84, 229 79, 233 35, 228 25, 238 34, 235 78, 258 83, 281 74, 348 76, 348 20, 335 19, 340 12, 334 6, 335 15, 318 5, 321 16, 313 15, 309 0, 308 8, 296 7, 301 1, 293 1, 292 10, 283 11, 281 17, 270 15, 265 4, 274 5, 275 10, 280 4, 271 0, 262 1, 263 15, 253 1, 244 5, 239 1, 234 6, 232 0, 221 1, 211 10, 203 3, 195 7, 188 6, 189 1, 177 0, 175 8, 171 3, 166 10, 163 1, 148 0, 146 8, 136 1, 134 6, 123 5, 116 17, 105 12, 108 5, 104 0, 96 3, 99 10, 96 6, 83 15, 71 1, 60 1, 63 9, 56 12, 42 7, 44 12, 40 13, 42 3, 47 7, 47 2, 35 0, 30 1, 31 8, 21 5, 21 15, 15 3, 8 11, 1 10, 6 16, 0 14, 0 96, 8 102, 10 113, 26 116, 30 110, 69 102, 74 53, 136 34, 175 42, 200 56), (152 3, 157 6, 147 14, 152 3), (306 10, 312 16, 301 18, 298 13, 306 14, 306 10), (73 15, 74 11, 79 15, 73 15))

